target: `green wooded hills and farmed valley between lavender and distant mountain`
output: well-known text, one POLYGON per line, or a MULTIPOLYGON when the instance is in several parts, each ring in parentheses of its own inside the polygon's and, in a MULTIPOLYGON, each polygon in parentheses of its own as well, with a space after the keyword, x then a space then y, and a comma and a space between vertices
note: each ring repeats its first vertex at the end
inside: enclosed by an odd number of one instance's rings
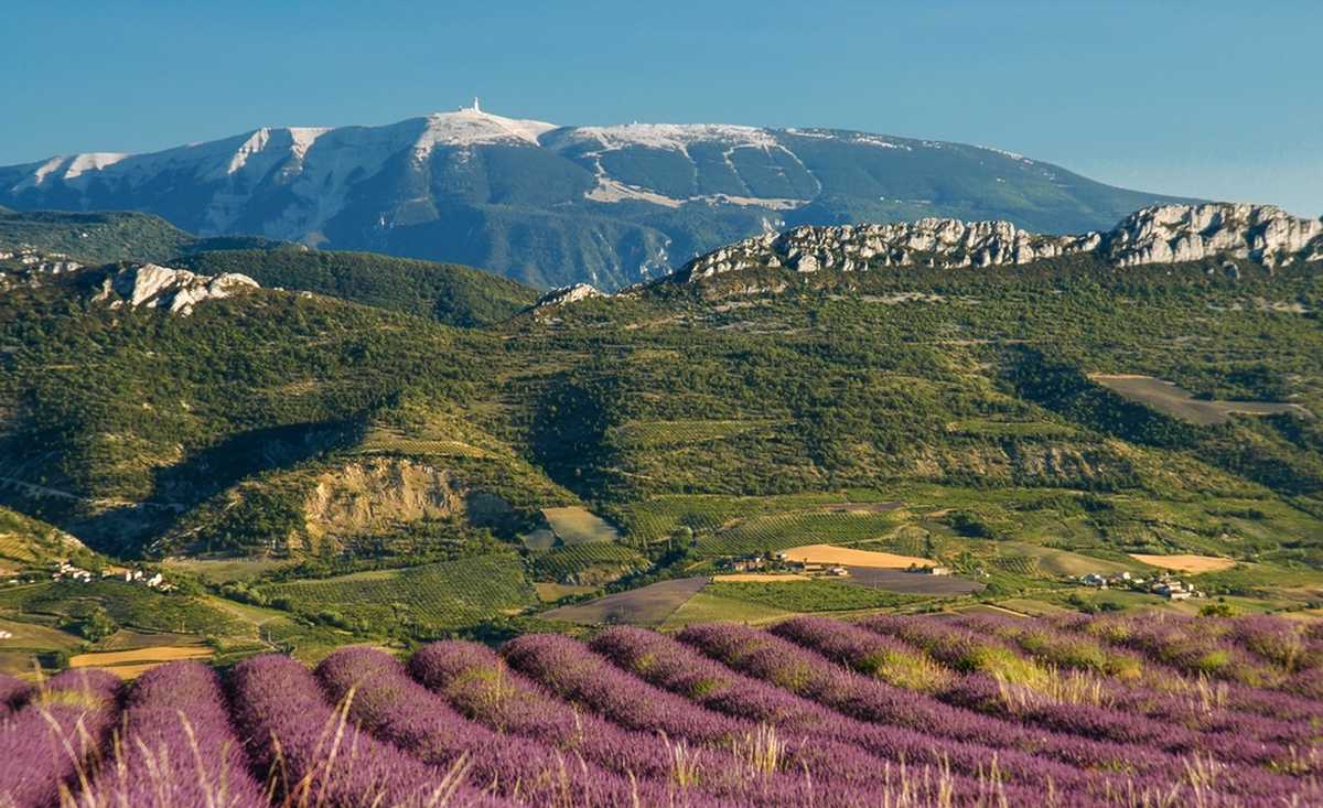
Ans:
POLYGON ((878 610, 1311 615, 1318 262, 1218 238, 1126 267, 807 272, 746 250, 537 305, 463 267, 283 245, 153 255, 254 279, 173 313, 99 296, 120 264, 29 268, 0 294, 0 618, 32 629, 0 655, 151 660, 168 635, 217 664, 315 661, 878 610), (1150 387, 1234 403, 1188 418, 1150 387), (173 588, 53 582, 57 561, 173 588), (1199 598, 1090 578, 1122 573, 1199 598))

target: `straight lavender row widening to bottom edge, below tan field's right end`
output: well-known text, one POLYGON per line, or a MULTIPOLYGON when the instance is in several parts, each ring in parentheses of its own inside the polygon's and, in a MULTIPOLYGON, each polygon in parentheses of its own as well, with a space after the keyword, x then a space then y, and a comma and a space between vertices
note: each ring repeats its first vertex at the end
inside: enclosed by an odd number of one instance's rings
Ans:
POLYGON ((196 661, 143 674, 130 692, 114 760, 81 808, 269 805, 230 726, 220 677, 196 661))

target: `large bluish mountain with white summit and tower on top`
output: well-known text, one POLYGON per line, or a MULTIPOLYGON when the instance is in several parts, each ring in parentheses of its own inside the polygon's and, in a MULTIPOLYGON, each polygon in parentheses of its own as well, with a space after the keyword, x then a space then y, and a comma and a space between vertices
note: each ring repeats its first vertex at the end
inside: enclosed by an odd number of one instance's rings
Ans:
POLYGON ((19 210, 148 212, 204 237, 464 263, 538 287, 618 288, 795 225, 937 216, 1062 233, 1170 201, 958 143, 721 124, 560 127, 476 103, 380 127, 261 128, 0 168, 0 205, 19 210))

